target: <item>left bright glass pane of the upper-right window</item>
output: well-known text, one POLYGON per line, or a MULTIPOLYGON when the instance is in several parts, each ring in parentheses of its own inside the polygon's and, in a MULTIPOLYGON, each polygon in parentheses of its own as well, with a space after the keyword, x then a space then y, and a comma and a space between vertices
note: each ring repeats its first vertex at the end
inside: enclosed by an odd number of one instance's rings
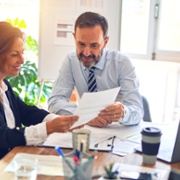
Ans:
POLYGON ((149 30, 150 0, 122 2, 121 51, 146 54, 149 30))

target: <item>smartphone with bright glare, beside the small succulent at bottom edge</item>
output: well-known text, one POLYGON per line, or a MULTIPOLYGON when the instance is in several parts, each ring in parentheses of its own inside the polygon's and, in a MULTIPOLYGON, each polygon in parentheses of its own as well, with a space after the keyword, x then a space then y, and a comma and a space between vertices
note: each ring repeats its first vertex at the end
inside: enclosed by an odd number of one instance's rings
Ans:
POLYGON ((152 180, 151 173, 142 173, 142 172, 135 172, 135 171, 121 171, 120 173, 121 179, 128 179, 128 180, 152 180))

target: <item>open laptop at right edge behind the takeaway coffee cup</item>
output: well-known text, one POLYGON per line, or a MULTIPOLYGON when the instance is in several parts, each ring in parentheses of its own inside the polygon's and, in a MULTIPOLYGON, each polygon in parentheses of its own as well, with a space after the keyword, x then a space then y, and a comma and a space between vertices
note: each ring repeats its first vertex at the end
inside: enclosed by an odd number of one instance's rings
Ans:
MULTIPOLYGON (((175 163, 180 162, 180 121, 177 126, 169 126, 168 129, 162 130, 161 144, 157 158, 159 160, 175 163)), ((136 151, 142 152, 141 146, 135 148, 136 151)))

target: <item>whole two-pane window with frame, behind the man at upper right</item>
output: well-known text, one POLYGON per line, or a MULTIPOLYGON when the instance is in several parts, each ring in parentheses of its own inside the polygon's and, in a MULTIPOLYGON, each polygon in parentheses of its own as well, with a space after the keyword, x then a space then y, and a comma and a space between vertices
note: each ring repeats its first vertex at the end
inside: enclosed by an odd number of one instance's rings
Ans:
POLYGON ((132 58, 180 62, 178 7, 178 0, 122 0, 120 50, 132 58))

